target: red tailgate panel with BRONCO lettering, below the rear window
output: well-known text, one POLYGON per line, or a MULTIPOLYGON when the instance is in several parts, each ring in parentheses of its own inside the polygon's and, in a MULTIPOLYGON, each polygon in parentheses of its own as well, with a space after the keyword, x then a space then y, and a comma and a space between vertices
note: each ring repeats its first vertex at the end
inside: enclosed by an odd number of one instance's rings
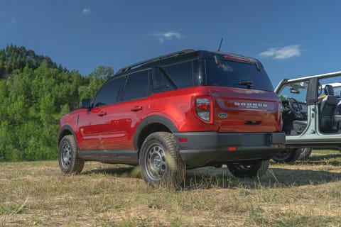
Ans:
POLYGON ((210 87, 214 130, 217 132, 281 131, 280 100, 274 92, 210 87))

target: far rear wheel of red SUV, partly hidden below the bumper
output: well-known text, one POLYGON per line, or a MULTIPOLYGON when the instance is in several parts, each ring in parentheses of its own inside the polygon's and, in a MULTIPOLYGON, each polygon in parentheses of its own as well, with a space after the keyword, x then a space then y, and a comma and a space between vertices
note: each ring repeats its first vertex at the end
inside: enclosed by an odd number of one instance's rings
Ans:
POLYGON ((250 165, 227 164, 227 167, 234 177, 261 177, 269 168, 269 160, 254 162, 250 165))

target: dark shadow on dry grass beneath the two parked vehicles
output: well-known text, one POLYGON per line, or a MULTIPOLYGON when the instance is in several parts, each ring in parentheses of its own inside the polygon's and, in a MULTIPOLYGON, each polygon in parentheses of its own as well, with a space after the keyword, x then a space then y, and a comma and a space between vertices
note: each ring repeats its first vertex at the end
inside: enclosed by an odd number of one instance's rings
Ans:
MULTIPOLYGON (((112 175, 120 178, 140 178, 139 167, 113 167, 88 170, 83 175, 112 175)), ((185 190, 212 189, 212 188, 288 188, 303 185, 318 185, 329 182, 341 181, 341 173, 322 170, 292 170, 285 166, 277 165, 269 167, 268 172, 262 177, 236 178, 233 177, 227 167, 202 167, 188 170, 185 176, 185 190)))

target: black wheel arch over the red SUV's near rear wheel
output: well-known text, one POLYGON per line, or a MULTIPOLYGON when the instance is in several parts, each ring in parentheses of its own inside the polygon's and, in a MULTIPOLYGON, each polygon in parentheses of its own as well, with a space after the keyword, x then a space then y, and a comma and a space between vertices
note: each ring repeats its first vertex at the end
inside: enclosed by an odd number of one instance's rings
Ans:
POLYGON ((148 135, 159 131, 174 133, 178 131, 178 128, 175 127, 171 120, 163 116, 148 116, 144 121, 141 121, 136 128, 133 140, 135 150, 141 148, 142 143, 144 143, 144 140, 148 135))

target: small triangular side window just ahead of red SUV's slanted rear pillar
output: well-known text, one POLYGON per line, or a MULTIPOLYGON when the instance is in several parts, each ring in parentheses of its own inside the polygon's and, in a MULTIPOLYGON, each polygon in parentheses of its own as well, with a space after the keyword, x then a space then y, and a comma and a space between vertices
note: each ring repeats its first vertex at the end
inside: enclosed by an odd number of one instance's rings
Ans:
POLYGON ((161 67, 155 67, 151 70, 151 80, 153 82, 154 92, 167 92, 176 89, 171 79, 167 78, 167 74, 163 72, 161 67))

